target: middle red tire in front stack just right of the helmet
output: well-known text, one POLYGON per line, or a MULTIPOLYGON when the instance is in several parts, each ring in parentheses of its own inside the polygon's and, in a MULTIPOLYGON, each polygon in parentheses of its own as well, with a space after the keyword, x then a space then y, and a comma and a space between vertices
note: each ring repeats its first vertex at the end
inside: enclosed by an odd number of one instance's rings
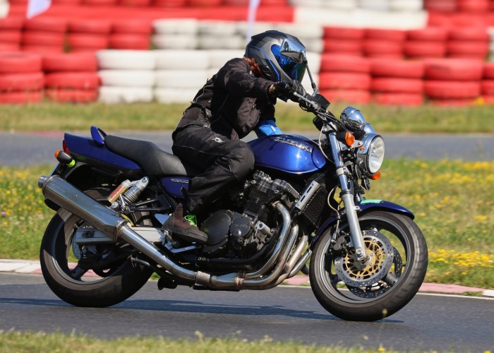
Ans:
POLYGON ((370 75, 367 73, 321 72, 319 73, 321 90, 368 90, 370 75))

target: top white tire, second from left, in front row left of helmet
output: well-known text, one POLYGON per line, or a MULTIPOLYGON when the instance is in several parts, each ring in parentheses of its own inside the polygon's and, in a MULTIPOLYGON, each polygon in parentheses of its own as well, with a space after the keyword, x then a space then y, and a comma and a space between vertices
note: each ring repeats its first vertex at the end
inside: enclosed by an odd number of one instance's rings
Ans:
POLYGON ((205 50, 155 50, 158 70, 205 70, 209 55, 205 50))

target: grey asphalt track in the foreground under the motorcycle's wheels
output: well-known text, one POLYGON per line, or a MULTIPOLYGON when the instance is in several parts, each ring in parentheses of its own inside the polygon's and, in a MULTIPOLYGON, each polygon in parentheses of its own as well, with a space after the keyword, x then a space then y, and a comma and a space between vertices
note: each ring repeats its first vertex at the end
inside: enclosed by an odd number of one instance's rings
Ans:
POLYGON ((323 309, 309 287, 209 292, 145 287, 121 304, 78 308, 57 298, 40 275, 0 273, 0 330, 82 333, 114 338, 161 335, 194 340, 236 337, 367 349, 492 351, 494 299, 417 294, 390 318, 342 321, 323 309))

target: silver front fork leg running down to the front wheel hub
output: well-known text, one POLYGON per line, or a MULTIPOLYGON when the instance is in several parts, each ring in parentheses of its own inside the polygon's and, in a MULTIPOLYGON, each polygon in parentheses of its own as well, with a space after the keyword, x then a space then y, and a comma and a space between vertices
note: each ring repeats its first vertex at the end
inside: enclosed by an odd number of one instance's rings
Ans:
POLYGON ((333 160, 335 161, 336 174, 339 179, 339 185, 342 189, 340 194, 344 208, 347 212, 347 220, 350 229, 351 241, 355 246, 356 261, 364 262, 366 261, 367 254, 365 245, 363 244, 362 231, 360 229, 359 217, 357 216, 357 209, 354 203, 354 194, 349 188, 349 182, 347 174, 345 174, 345 166, 342 160, 341 148, 339 147, 339 142, 336 138, 335 132, 330 132, 327 134, 327 138, 330 141, 331 152, 333 160))

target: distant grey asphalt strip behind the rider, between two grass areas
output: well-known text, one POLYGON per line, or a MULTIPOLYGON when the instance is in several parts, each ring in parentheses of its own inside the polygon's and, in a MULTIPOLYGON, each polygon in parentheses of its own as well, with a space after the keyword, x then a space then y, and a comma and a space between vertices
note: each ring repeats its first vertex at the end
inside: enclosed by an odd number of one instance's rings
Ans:
MULTIPOLYGON (((73 132, 72 132, 73 133, 73 132)), ((90 136, 88 131, 75 132, 90 136)), ((150 140, 171 152, 171 132, 107 133, 138 140, 150 140)), ((317 133, 300 133, 318 138, 317 133)), ((494 160, 494 135, 401 135, 384 134, 385 158, 421 158, 424 160, 494 160)), ((55 164, 54 152, 61 149, 63 133, 6 133, 0 132, 0 165, 55 164)), ((245 140, 255 138, 251 134, 245 140)))

